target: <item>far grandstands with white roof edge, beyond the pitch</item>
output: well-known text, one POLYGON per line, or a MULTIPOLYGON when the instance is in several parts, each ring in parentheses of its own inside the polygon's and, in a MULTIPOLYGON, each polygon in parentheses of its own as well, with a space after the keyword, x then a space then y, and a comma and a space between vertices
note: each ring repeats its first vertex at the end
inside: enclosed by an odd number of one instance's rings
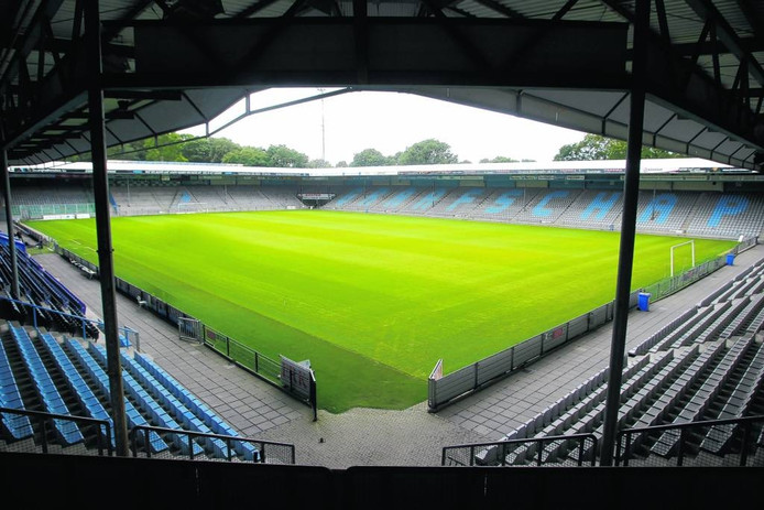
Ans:
MULTIPOLYGON (((352 176, 320 171, 230 165, 116 162, 110 204, 116 216, 197 211, 331 210, 432 216, 600 230, 621 227, 623 161, 368 167, 352 176), (125 166, 127 165, 127 166, 125 166), (454 166, 454 167, 451 167, 454 166), (281 175, 279 175, 281 173, 281 175), (316 205, 303 193, 334 196, 316 205), (309 202, 309 203, 308 203, 309 202)), ((637 230, 719 239, 764 229, 758 175, 702 160, 645 163, 637 230)), ((13 215, 20 219, 85 217, 94 209, 84 163, 14 169, 13 215), (58 185, 62 172, 70 175, 58 185), (78 178, 75 178, 78 177, 78 178), (41 203, 41 184, 55 186, 41 203)))

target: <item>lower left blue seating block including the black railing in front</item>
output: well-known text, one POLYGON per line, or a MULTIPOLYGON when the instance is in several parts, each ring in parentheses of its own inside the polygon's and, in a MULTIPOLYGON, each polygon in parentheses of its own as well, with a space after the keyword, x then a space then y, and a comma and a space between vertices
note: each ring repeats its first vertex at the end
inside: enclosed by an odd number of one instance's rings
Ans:
MULTIPOLYGON (((8 360, 6 354, 9 351, 15 362, 0 366, 4 375, 0 387, 2 448, 112 455, 114 438, 108 412, 110 389, 103 349, 87 340, 66 336, 58 339, 44 330, 7 324, 0 361, 8 360), (11 338, 17 341, 9 344, 11 338), (13 376, 14 370, 25 375, 23 391, 19 390, 15 377, 8 377, 8 373, 13 376), (30 390, 32 387, 34 392, 30 390)), ((294 445, 239 436, 176 381, 175 392, 194 405, 182 403, 182 399, 174 397, 138 361, 128 363, 125 351, 122 349, 122 360, 128 367, 123 371, 124 403, 132 456, 295 463, 294 445), (179 419, 182 415, 184 417, 179 419)), ((153 367, 156 373, 163 372, 149 360, 143 365, 153 367)))

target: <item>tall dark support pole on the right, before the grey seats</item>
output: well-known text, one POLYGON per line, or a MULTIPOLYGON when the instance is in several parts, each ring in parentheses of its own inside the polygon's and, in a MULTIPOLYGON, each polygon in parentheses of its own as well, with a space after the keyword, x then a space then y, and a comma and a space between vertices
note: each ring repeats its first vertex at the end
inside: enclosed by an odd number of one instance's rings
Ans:
POLYGON ((613 465, 615 435, 618 434, 618 413, 621 401, 621 372, 623 371, 623 356, 626 350, 626 323, 629 316, 632 268, 634 265, 634 237, 636 234, 636 206, 640 193, 640 161, 645 110, 645 66, 647 56, 645 44, 650 31, 650 2, 651 0, 636 0, 636 12, 634 17, 629 145, 626 148, 613 337, 610 347, 610 376, 608 379, 602 449, 600 453, 601 466, 613 465))

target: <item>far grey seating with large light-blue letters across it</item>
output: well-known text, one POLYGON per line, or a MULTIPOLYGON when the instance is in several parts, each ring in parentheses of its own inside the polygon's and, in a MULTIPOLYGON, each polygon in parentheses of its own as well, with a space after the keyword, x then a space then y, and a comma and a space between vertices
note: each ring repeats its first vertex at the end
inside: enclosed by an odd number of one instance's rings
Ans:
MULTIPOLYGON (((324 208, 594 229, 613 229, 622 203, 622 194, 597 189, 371 186, 334 192, 337 197, 324 208)), ((637 228, 736 239, 761 234, 762 211, 762 200, 747 194, 641 192, 637 228)))

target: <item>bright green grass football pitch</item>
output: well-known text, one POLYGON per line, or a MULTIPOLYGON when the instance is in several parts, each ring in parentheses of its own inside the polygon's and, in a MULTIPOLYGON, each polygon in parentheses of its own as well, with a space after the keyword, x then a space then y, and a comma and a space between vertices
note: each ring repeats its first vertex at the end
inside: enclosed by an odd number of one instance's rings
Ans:
MULTIPOLYGON (((31 224, 97 263, 95 220, 31 224)), ((319 406, 404 409, 448 373, 615 294, 618 232, 320 210, 117 217, 117 275, 274 359, 319 406)), ((686 238, 640 235, 633 289, 686 238)), ((731 241, 697 239, 697 263, 731 241)), ((675 253, 676 270, 690 249, 675 253)))

